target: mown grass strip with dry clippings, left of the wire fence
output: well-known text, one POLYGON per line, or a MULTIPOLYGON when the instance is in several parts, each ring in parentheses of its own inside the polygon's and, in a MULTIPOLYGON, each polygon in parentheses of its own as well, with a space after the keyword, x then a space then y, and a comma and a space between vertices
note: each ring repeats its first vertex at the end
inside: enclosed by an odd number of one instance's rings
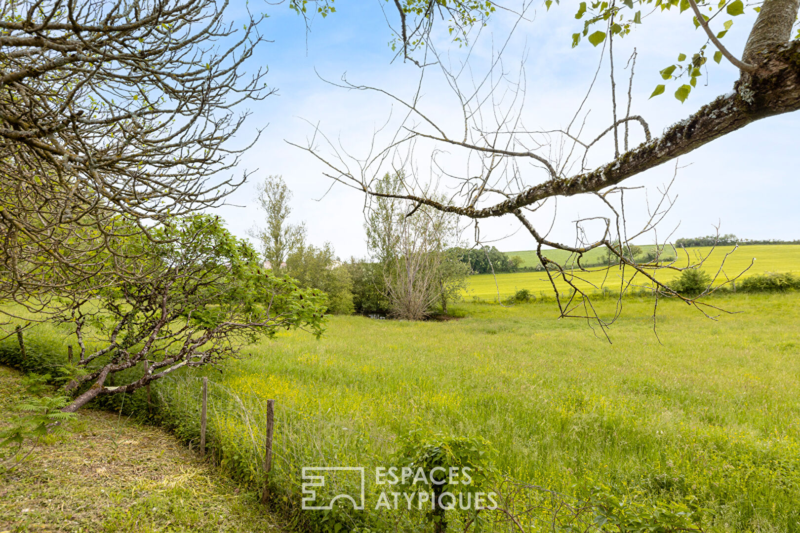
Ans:
MULTIPOLYGON (((22 399, 19 377, 0 366, 0 424, 22 399)), ((257 495, 160 428, 86 409, 75 430, 0 467, 2 533, 281 531, 257 495)))

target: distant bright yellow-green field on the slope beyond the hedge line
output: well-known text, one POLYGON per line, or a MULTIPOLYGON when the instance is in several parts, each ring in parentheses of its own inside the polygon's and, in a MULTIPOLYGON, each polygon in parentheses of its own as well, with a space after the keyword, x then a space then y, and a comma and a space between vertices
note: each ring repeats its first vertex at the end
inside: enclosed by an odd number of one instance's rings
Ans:
MULTIPOLYGON (((642 246, 642 249, 646 248, 646 246, 642 246)), ((713 276, 722 265, 722 260, 726 253, 729 253, 732 249, 733 247, 722 246, 714 249, 703 269, 713 276)), ((706 257, 710 250, 710 247, 686 249, 686 253, 678 253, 676 265, 686 266, 689 262, 697 262, 698 258, 706 257)), ((515 255, 522 257, 526 261, 525 265, 534 265, 535 261, 537 261, 534 251, 508 252, 506 255, 509 257, 515 255)), ((562 250, 546 250, 543 251, 543 255, 562 265, 568 265, 571 261, 570 254, 562 250)), ((593 250, 591 253, 586 254, 586 261, 597 261, 601 255, 597 250, 593 250)), ((800 245, 740 246, 725 261, 723 272, 730 277, 736 276, 750 266, 750 262, 754 258, 756 261, 745 276, 763 272, 800 272, 800 245)), ((622 271, 619 268, 614 267, 610 270, 590 268, 590 270, 595 272, 580 273, 580 276, 585 278, 588 283, 576 281, 576 284, 585 288, 588 292, 604 286, 618 288, 622 283, 622 271)), ((658 279, 668 281, 677 275, 678 272, 664 270, 658 272, 658 279)), ((630 279, 630 268, 626 269, 625 277, 630 279)), ((641 275, 637 276, 634 279, 634 283, 645 284, 647 280, 640 278, 642 278, 641 275)), ((721 279, 724 280, 724 276, 721 279)), ((470 276, 469 288, 465 292, 465 299, 471 300, 473 297, 478 297, 482 300, 494 301, 498 294, 500 299, 503 299, 522 288, 530 290, 537 296, 540 292, 545 292, 546 294, 552 294, 553 292, 553 287, 545 272, 515 272, 513 274, 498 274, 497 276, 478 274, 470 276)), ((559 291, 567 291, 569 290, 569 285, 559 281, 558 289, 559 291)))

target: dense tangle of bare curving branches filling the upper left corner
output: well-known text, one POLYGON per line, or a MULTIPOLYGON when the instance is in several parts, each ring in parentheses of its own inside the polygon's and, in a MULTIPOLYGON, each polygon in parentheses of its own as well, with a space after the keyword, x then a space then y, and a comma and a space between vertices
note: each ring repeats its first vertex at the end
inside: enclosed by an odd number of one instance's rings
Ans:
POLYGON ((114 241, 220 205, 246 178, 230 171, 247 146, 226 141, 240 105, 271 91, 266 70, 242 72, 261 17, 234 27, 227 5, 2 2, 0 297, 42 311, 106 273, 130 280, 114 241))

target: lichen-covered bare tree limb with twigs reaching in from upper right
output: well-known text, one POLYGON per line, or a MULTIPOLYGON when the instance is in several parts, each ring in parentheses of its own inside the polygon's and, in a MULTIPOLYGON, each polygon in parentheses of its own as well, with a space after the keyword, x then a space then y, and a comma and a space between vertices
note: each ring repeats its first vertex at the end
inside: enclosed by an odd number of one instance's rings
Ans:
MULTIPOLYGON (((546 3, 550 6, 551 2, 546 3)), ((673 3, 678 5, 678 2, 673 3)), ((428 11, 412 9, 414 6, 424 5, 433 9, 434 2, 407 0, 396 2, 402 26, 399 33, 407 36, 415 28, 421 28, 418 31, 423 32, 421 36, 417 34, 418 41, 412 42, 407 38, 403 43, 404 50, 409 50, 413 45, 418 54, 414 61, 421 66, 418 90, 404 98, 379 87, 351 83, 346 78, 338 83, 346 89, 382 94, 394 105, 400 105, 406 113, 398 128, 388 133, 386 141, 379 141, 377 138, 378 134, 385 133, 376 133, 370 152, 358 157, 347 153, 341 145, 335 145, 318 130, 314 131, 314 136, 306 144, 290 144, 305 149, 322 161, 327 166, 326 176, 332 180, 352 186, 370 197, 402 199, 417 207, 427 206, 442 213, 469 217, 474 221, 475 240, 478 243, 481 241, 480 221, 492 217, 514 217, 536 243, 538 259, 554 289, 562 316, 586 318, 591 324, 599 325, 603 331, 618 316, 621 306, 616 308, 610 319, 602 319, 591 303, 590 292, 600 287, 594 285, 591 276, 586 276, 586 273, 597 269, 582 265, 582 257, 590 250, 600 247, 609 249, 616 256, 614 268, 618 269, 618 273, 611 279, 618 280, 620 296, 631 288, 646 284, 657 296, 680 298, 700 309, 714 308, 707 301, 703 302, 702 297, 714 292, 721 284, 735 279, 735 275, 728 276, 723 268, 719 268, 712 284, 705 291, 697 296, 684 296, 668 287, 662 281, 663 276, 658 276, 658 270, 679 272, 687 268, 696 269, 702 266, 705 257, 699 261, 690 261, 688 256, 685 257, 686 261, 681 259, 681 262, 637 261, 630 249, 634 239, 645 235, 657 237, 657 225, 674 202, 674 197, 670 194, 670 184, 661 189, 658 201, 647 205, 648 215, 636 228, 630 227, 631 221, 626 217, 625 210, 625 199, 632 192, 630 188, 619 184, 647 169, 674 161, 677 157, 753 121, 800 109, 800 63, 796 61, 800 54, 800 42, 790 40, 798 14, 798 0, 763 2, 750 30, 742 60, 734 62, 742 73, 734 84, 734 90, 715 98, 697 113, 670 126, 660 137, 653 137, 645 118, 632 113, 630 109, 635 53, 629 60, 631 78, 627 109, 624 112, 616 99, 615 76, 618 73, 614 72, 614 35, 622 36, 630 30, 631 24, 640 22, 640 14, 635 14, 629 21, 622 21, 625 14, 622 10, 641 9, 650 4, 652 2, 647 0, 622 2, 619 5, 603 2, 602 5, 591 8, 594 11, 584 25, 583 34, 586 35, 592 25, 601 26, 600 30, 590 35, 589 41, 595 46, 603 43, 597 73, 602 66, 606 66, 611 82, 609 124, 597 132, 587 131, 584 109, 586 99, 578 105, 574 114, 570 113, 566 117, 566 128, 526 127, 522 113, 526 93, 524 64, 518 78, 512 79, 510 70, 503 63, 505 45, 501 43, 501 46, 493 47, 494 55, 486 74, 474 74, 469 62, 471 49, 464 54, 466 59, 462 62, 454 61, 449 53, 437 50, 436 39, 431 34, 434 18, 428 11), (410 22, 409 18, 412 16, 418 17, 414 19, 417 22, 410 22), (434 120, 434 114, 423 109, 422 78, 430 77, 431 71, 441 75, 452 89, 453 99, 460 107, 458 114, 461 124, 454 128, 434 120), (629 127, 631 125, 636 127, 629 127), (623 127, 624 135, 620 131, 623 127), (613 142, 606 142, 608 137, 613 137, 613 142), (640 138, 641 143, 636 145, 632 141, 634 137, 640 138), (452 191, 446 201, 434 194, 436 188, 430 180, 423 179, 415 172, 422 146, 430 147, 430 169, 435 175, 434 181, 446 181, 446 189, 452 191), (608 162, 597 167, 589 166, 589 161, 598 157, 598 150, 603 146, 610 146, 606 160, 608 162), (450 169, 449 161, 441 157, 445 150, 456 154, 452 159, 466 161, 466 169, 450 169), (397 185, 397 191, 384 192, 376 186, 386 167, 403 171, 398 174, 402 176, 402 181, 397 185), (581 217, 574 222, 574 243, 548 238, 548 226, 552 223, 538 228, 531 214, 545 205, 554 209, 553 201, 558 197, 575 195, 594 198, 598 213, 596 216, 581 217), (569 265, 559 264, 546 257, 548 248, 570 252, 569 265), (571 291, 565 293, 563 289, 559 290, 559 284, 566 285, 571 291)), ((530 5, 530 2, 526 2, 522 12, 518 14, 518 23, 526 20, 530 5)), ((712 7, 708 3, 701 5, 706 10, 712 7)), ((583 6, 585 4, 582 4, 582 10, 583 6)), ((658 10, 657 5, 653 6, 654 10, 658 10)), ((690 6, 697 8, 694 0, 690 0, 690 6)), ((724 6, 715 4, 713 8, 725 9, 724 6)), ((576 18, 582 16, 583 13, 579 11, 576 18)), ((483 22, 481 18, 475 20, 483 22)), ((698 25, 711 36, 712 33, 708 30, 709 20, 704 17, 699 20, 701 22, 698 25)), ((577 44, 581 34, 575 36, 574 42, 577 44)), ((718 47, 720 54, 730 56, 730 52, 724 49, 716 36, 714 39, 710 38, 710 41, 718 47)), ((691 61, 696 64, 691 66, 688 75, 694 84, 698 75, 695 70, 702 66, 705 58, 698 54, 691 61)), ((594 74, 594 79, 588 80, 589 92, 599 85, 596 83, 597 73, 594 74)), ((682 98, 685 99, 686 94, 682 93, 682 98)), ((605 271, 610 272, 609 267, 605 271)))

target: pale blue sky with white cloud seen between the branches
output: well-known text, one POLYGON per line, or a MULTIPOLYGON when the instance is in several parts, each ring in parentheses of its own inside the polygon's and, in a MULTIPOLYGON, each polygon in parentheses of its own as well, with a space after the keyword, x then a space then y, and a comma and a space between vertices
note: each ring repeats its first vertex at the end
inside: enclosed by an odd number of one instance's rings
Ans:
MULTIPOLYGON (((306 223, 307 240, 311 244, 322 245, 327 241, 339 257, 364 257, 367 250, 362 227, 363 193, 325 177, 324 166, 312 154, 287 141, 303 145, 318 128, 340 150, 354 157, 365 157, 373 143, 388 142, 390 133, 394 132, 391 126, 396 125, 401 116, 399 107, 386 95, 342 89, 331 82, 346 76, 354 84, 380 87, 399 97, 410 98, 418 88, 420 70, 408 62, 393 62, 394 53, 388 46, 392 34, 386 22, 387 15, 395 22, 391 18, 394 13, 388 9, 390 3, 338 0, 334 5, 336 13, 327 18, 315 18, 307 31, 302 18, 286 3, 277 6, 266 2, 249 4, 250 10, 260 6, 270 15, 262 23, 261 31, 271 42, 258 48, 246 68, 267 67, 266 82, 277 89, 277 93, 248 105, 250 116, 246 125, 231 142, 252 141, 258 129, 262 129, 258 141, 242 156, 238 168, 238 172, 245 169, 251 172, 250 180, 241 185, 229 197, 229 205, 218 208, 217 213, 226 219, 233 233, 246 237, 247 230, 259 225, 263 216, 256 201, 256 182, 267 175, 278 174, 294 194, 291 219, 306 223), (387 8, 386 15, 382 7, 387 8), (374 139, 375 130, 386 124, 390 127, 374 139)), ((577 48, 571 47, 571 34, 582 29, 582 21, 574 18, 577 2, 554 4, 549 11, 543 4, 534 4, 533 8, 526 14, 528 20, 522 22, 506 12, 497 14, 475 41, 468 65, 474 78, 481 78, 494 58, 493 50, 507 40, 503 66, 510 78, 525 83, 522 115, 526 127, 564 128, 586 95, 602 46, 594 48, 582 42, 577 48), (514 24, 517 26, 512 32, 514 24), (521 66, 524 66, 523 74, 520 74, 521 66)), ((242 17, 242 9, 243 5, 234 6, 229 16, 242 17)), ((723 20, 714 19, 712 24, 722 26, 723 20)), ((752 20, 753 14, 738 17, 726 36, 726 45, 734 54, 741 53, 752 20)), ((439 37, 434 42, 439 50, 447 49, 446 39, 439 37)), ((654 87, 664 83, 658 71, 675 62, 680 52, 691 56, 704 42, 702 30, 695 30, 691 17, 686 14, 654 15, 642 26, 634 26, 634 31, 626 38, 614 40, 620 105, 626 103, 630 72, 623 67, 635 47, 638 55, 631 113, 645 117, 654 136, 688 117, 718 94, 729 92, 738 78, 738 71, 723 59, 719 66, 714 64, 699 78, 698 87, 685 103, 672 96, 684 82, 671 82, 664 94, 649 98, 654 87)), ((710 50, 710 54, 713 51, 710 50)), ((465 49, 451 46, 451 61, 463 61, 465 52, 465 49)), ((458 131, 459 128, 463 130, 463 125, 459 122, 461 111, 457 101, 441 74, 436 75, 435 69, 430 73, 426 72, 422 85, 421 108, 446 126, 454 137, 459 137, 458 131)), ((504 86, 498 87, 499 94, 504 86)), ((610 77, 604 64, 583 108, 584 111, 590 109, 585 127, 587 137, 594 137, 610 125, 609 97, 610 77)), ((796 113, 770 117, 681 157, 678 168, 673 162, 630 178, 624 185, 643 187, 626 193, 630 229, 646 221, 646 201, 658 198, 658 190, 674 177, 670 188, 675 197, 674 206, 658 226, 659 241, 670 235, 674 239, 713 234, 717 225, 720 233, 735 233, 739 237, 800 238, 800 209, 797 209, 800 183, 796 179, 798 126, 800 117, 796 113)), ((631 132, 635 143, 643 140, 641 129, 632 126, 631 132)), ((317 137, 317 141, 319 139, 317 137)), ((610 141, 610 137, 606 139, 610 141)), ((609 142, 604 142, 590 153, 589 161, 593 165, 601 165, 613 157, 613 153, 609 157, 609 142)), ((318 142, 318 146, 322 153, 330 156, 330 149, 326 149, 324 143, 318 142)), ((446 191, 447 179, 430 169, 430 153, 436 148, 442 147, 420 146, 408 162, 419 169, 425 179, 435 181, 446 191)), ((449 150, 442 161, 448 173, 462 175, 469 170, 465 166, 466 158, 457 151, 449 150)), ((541 175, 532 167, 526 167, 523 172, 530 183, 541 175)), ((561 199, 557 208, 551 202, 535 213, 532 221, 544 231, 552 225, 551 238, 573 244, 574 221, 602 213, 597 202, 586 197, 561 199)), ((467 227, 468 223, 463 223, 466 229, 462 238, 474 241, 474 231, 467 227)), ((512 216, 482 221, 480 235, 483 242, 503 251, 533 249, 535 245, 530 234, 521 231, 512 216)), ((648 234, 634 242, 650 244, 653 239, 654 236, 648 234)))

